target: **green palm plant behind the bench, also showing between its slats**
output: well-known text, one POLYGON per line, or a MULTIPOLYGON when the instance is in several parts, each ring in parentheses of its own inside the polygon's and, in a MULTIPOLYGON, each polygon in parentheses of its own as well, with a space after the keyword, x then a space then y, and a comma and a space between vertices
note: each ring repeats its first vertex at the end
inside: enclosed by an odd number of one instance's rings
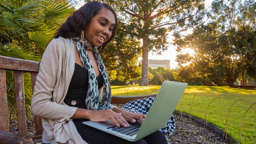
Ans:
MULTIPOLYGON (((0 55, 40 61, 56 29, 74 11, 69 1, 1 0, 0 55)), ((13 74, 6 71, 9 116, 16 117, 13 74)), ((24 73, 27 117, 31 118, 31 76, 24 73)))

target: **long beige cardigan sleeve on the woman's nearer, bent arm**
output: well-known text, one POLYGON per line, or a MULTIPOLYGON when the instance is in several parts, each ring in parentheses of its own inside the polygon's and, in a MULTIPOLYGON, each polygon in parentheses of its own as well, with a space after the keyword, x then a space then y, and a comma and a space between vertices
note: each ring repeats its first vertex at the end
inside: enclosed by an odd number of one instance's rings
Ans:
MULTIPOLYGON (((70 119, 77 109, 59 104, 66 86, 63 84, 65 82, 57 83, 59 77, 64 75, 61 75, 61 68, 64 67, 62 63, 65 60, 65 46, 69 46, 64 45, 65 41, 68 40, 53 39, 43 53, 31 101, 33 115, 48 119, 70 119), (58 96, 53 98, 53 94, 58 96)), ((65 78, 61 81, 65 81, 65 78)))

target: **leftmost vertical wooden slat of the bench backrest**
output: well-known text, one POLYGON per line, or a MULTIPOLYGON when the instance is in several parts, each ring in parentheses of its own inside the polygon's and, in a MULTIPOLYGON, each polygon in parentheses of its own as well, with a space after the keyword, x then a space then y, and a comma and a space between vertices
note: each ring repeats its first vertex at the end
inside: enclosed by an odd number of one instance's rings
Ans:
POLYGON ((0 130, 9 132, 5 69, 0 69, 0 130))

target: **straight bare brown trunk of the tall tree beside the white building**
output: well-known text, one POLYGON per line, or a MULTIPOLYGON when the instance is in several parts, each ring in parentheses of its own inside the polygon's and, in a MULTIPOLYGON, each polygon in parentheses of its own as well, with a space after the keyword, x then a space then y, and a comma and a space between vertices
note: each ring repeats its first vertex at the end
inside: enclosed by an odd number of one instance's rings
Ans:
POLYGON ((140 86, 148 85, 148 37, 142 37, 142 71, 140 86))

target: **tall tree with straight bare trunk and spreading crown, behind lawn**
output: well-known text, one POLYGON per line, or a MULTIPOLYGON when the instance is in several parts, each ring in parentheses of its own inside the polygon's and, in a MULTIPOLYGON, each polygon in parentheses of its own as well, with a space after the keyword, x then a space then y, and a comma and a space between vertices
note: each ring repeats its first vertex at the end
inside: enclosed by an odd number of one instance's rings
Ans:
POLYGON ((196 24, 204 0, 105 0, 117 10, 125 33, 142 39, 141 86, 148 85, 148 52, 167 49, 168 32, 196 24))

